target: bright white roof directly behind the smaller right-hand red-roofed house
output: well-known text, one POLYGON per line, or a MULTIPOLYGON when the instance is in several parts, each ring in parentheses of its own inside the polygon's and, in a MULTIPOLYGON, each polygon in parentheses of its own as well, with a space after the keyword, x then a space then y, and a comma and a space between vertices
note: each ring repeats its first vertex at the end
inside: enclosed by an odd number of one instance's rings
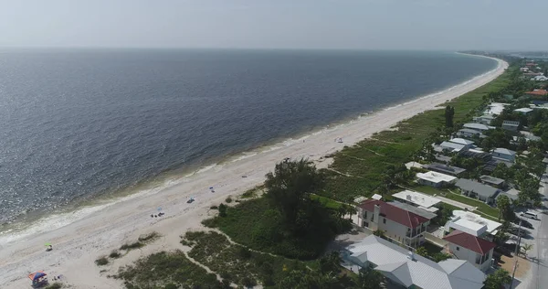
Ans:
POLYGON ((491 234, 501 225, 499 222, 485 219, 469 211, 453 210, 453 218, 448 220, 445 230, 449 231, 449 228, 453 228, 478 237, 486 232, 491 234))

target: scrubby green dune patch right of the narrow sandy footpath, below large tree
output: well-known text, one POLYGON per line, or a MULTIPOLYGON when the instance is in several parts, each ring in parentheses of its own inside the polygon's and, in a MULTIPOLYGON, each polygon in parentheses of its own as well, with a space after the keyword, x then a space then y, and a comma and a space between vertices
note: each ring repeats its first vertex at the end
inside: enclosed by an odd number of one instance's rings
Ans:
POLYGON ((274 286, 286 271, 304 268, 303 262, 252 252, 246 247, 231 244, 216 232, 187 232, 186 242, 192 242, 188 255, 218 273, 224 280, 240 286, 263 284, 274 286))

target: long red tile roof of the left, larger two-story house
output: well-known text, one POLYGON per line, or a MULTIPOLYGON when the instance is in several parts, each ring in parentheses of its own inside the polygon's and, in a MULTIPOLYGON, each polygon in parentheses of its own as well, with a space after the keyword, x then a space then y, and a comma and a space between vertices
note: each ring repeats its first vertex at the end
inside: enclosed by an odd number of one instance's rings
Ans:
POLYGON ((396 223, 400 223, 408 228, 416 228, 422 223, 427 222, 428 219, 422 216, 418 216, 408 210, 401 209, 385 203, 382 200, 370 199, 364 201, 359 207, 366 211, 374 212, 374 205, 379 205, 381 208, 381 215, 386 219, 391 219, 396 223))

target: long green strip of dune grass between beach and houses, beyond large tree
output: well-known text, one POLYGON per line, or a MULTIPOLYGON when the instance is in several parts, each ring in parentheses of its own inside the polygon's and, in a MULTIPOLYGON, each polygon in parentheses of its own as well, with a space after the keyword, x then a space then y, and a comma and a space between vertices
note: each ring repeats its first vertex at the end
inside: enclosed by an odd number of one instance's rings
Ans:
MULTIPOLYGON (((483 96, 501 91, 509 83, 505 73, 496 80, 466 93, 452 102, 455 107, 454 122, 465 123, 480 112, 483 96)), ((445 125, 444 109, 419 113, 395 125, 396 130, 374 134, 357 145, 345 147, 333 154, 332 170, 324 169, 328 177, 327 186, 321 195, 351 202, 358 196, 371 197, 382 184, 383 174, 390 165, 400 166, 412 160, 412 155, 421 147, 428 134, 445 125)))

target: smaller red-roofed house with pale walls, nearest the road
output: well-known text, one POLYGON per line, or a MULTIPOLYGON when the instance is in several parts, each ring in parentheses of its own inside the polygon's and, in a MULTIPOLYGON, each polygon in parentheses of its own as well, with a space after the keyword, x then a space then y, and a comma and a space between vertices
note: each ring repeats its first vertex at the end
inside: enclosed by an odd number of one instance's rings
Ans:
POLYGON ((459 260, 466 260, 482 272, 492 265, 494 242, 481 239, 469 233, 454 230, 443 240, 448 241, 447 250, 459 260))

